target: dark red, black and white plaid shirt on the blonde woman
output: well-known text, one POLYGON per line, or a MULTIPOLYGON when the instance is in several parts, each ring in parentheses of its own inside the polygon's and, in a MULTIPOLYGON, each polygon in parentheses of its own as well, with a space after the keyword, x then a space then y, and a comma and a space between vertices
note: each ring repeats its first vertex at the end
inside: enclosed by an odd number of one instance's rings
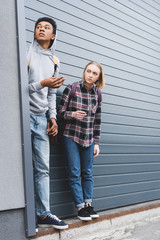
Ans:
POLYGON ((99 144, 101 130, 101 102, 98 103, 97 88, 94 85, 88 90, 83 82, 79 82, 74 96, 70 99, 71 85, 68 85, 62 94, 58 118, 65 119, 63 135, 88 147, 94 141, 99 144), (87 115, 82 120, 72 118, 73 111, 85 111, 87 115))

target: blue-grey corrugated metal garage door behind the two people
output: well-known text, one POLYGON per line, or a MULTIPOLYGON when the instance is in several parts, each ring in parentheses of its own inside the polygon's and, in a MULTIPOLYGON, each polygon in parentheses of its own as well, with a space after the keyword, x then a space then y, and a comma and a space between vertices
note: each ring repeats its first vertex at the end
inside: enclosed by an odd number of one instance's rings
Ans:
MULTIPOLYGON (((27 44, 42 16, 58 24, 67 81, 90 60, 104 66, 101 154, 94 161, 97 210, 160 198, 160 3, 155 0, 26 0, 27 44)), ((64 89, 62 87, 61 91, 64 89)), ((51 209, 75 214, 62 146, 51 149, 51 209)))

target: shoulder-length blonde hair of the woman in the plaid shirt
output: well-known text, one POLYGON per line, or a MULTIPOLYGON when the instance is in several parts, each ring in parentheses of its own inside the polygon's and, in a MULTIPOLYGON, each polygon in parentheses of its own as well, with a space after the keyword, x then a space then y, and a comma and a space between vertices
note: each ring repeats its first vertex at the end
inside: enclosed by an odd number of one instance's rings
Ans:
POLYGON ((84 71, 83 71, 82 81, 85 82, 85 78, 84 78, 84 77, 85 77, 85 71, 86 71, 87 67, 88 67, 89 65, 91 65, 91 64, 96 65, 96 66, 99 68, 99 70, 100 70, 99 79, 97 80, 97 82, 96 82, 95 84, 96 84, 96 87, 97 87, 98 89, 102 89, 102 88, 105 87, 104 71, 103 71, 103 68, 102 68, 101 64, 98 63, 98 62, 96 62, 96 61, 91 61, 91 62, 89 62, 89 63, 86 65, 86 67, 85 67, 85 69, 84 69, 84 71))

